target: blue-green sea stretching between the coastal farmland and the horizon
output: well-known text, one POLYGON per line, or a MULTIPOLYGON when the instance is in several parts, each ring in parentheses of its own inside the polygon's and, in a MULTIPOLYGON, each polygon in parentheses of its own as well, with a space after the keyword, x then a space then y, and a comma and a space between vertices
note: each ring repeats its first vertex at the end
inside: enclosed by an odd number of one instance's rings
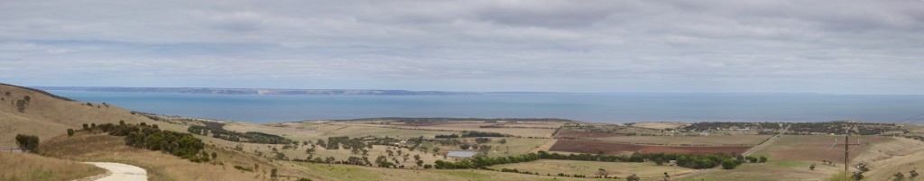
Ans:
POLYGON ((217 95, 50 90, 81 102, 250 123, 368 117, 642 121, 924 123, 924 95, 760 93, 488 93, 480 95, 217 95), (917 116, 917 117, 916 117, 917 116))

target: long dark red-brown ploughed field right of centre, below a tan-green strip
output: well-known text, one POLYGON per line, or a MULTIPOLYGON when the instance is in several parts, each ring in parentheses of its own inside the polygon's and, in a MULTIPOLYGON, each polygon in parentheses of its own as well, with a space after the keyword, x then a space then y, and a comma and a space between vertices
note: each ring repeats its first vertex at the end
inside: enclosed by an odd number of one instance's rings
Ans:
POLYGON ((742 153, 750 147, 665 147, 649 145, 633 145, 587 140, 559 139, 549 151, 581 152, 595 154, 603 151, 606 154, 631 154, 633 152, 651 153, 690 153, 711 154, 717 152, 742 153))

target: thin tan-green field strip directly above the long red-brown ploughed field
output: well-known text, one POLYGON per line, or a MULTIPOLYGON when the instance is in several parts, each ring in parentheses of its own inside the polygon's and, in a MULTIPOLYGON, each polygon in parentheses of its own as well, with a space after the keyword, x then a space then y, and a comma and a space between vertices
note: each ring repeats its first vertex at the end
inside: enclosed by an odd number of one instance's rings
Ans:
POLYGON ((771 135, 723 135, 702 137, 662 137, 662 136, 630 136, 630 137, 604 137, 594 140, 615 141, 632 144, 654 144, 669 146, 684 145, 757 145, 770 139, 771 135))

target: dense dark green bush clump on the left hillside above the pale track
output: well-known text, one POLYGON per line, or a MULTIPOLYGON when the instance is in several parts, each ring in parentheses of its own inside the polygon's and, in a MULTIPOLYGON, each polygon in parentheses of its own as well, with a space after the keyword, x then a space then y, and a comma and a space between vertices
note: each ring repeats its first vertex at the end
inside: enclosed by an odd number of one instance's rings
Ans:
MULTIPOLYGON (((95 126, 95 124, 92 124, 95 126)), ((192 134, 161 130, 157 125, 148 126, 145 123, 131 124, 103 124, 92 127, 91 131, 103 131, 109 135, 125 137, 125 144, 139 149, 164 151, 194 163, 209 162, 209 154, 204 149, 201 139, 192 134)))

